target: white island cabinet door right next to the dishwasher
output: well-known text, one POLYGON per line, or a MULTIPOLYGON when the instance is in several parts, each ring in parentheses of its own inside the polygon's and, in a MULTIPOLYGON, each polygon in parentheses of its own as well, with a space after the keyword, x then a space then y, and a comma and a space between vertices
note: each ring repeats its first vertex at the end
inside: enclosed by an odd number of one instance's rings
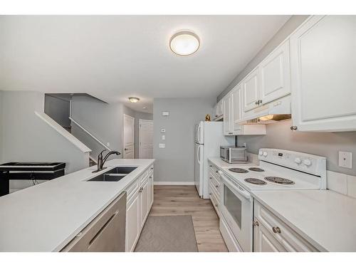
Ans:
POLYGON ((135 193, 135 197, 126 210, 126 246, 125 251, 131 252, 135 249, 136 241, 140 234, 140 197, 135 193))

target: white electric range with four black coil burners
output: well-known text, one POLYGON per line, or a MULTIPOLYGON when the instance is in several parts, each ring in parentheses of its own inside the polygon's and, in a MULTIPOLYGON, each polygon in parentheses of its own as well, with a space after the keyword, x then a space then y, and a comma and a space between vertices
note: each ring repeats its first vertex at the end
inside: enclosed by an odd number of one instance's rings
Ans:
POLYGON ((254 190, 326 189, 326 159, 316 155, 261 148, 254 167, 222 167, 219 171, 223 187, 221 195, 221 233, 229 232, 226 244, 231 251, 253 249, 254 190))

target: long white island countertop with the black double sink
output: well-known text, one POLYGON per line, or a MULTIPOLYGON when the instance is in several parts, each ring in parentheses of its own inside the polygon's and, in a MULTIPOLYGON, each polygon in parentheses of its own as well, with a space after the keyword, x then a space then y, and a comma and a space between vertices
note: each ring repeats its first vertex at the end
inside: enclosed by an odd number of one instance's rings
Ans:
POLYGON ((112 159, 0 197, 0 251, 60 251, 155 159, 112 159), (118 182, 85 182, 116 166, 137 166, 118 182))

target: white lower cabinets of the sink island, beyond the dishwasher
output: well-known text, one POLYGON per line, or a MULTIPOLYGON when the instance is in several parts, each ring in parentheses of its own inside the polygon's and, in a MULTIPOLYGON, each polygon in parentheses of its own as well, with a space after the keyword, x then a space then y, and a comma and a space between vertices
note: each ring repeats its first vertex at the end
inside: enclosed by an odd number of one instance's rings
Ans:
POLYGON ((153 204, 153 165, 126 190, 128 197, 125 251, 132 252, 153 204))

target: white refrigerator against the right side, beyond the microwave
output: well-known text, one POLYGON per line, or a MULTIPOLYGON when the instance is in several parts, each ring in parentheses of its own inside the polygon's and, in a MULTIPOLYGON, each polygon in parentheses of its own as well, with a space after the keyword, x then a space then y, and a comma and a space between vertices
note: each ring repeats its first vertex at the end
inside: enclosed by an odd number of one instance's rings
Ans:
POLYGON ((209 199, 208 157, 220 157, 220 145, 235 145, 235 137, 224 136, 223 122, 195 125, 194 184, 199 197, 209 199))

